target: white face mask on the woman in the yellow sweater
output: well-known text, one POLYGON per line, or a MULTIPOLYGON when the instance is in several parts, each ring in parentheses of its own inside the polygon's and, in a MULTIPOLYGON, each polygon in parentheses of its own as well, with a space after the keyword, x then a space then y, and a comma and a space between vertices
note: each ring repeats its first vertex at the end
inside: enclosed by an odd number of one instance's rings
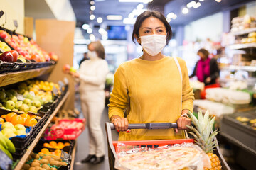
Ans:
POLYGON ((145 35, 140 37, 142 47, 151 56, 155 56, 166 46, 166 35, 145 35))

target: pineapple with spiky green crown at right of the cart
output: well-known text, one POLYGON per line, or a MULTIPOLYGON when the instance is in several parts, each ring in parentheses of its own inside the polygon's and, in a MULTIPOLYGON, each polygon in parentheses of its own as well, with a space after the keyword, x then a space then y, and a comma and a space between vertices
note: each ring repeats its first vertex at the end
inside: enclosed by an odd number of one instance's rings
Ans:
MULTIPOLYGON (((206 114, 203 116, 202 112, 198 112, 198 119, 196 118, 193 113, 189 113, 191 117, 191 121, 196 126, 196 129, 192 126, 188 126, 190 130, 193 132, 189 132, 193 137, 195 137, 196 144, 199 145, 203 149, 204 152, 208 155, 211 162, 210 169, 221 169, 220 159, 216 154, 213 154, 213 150, 215 150, 216 145, 218 142, 214 140, 214 137, 218 134, 218 130, 210 133, 213 128, 214 119, 209 118, 209 112, 206 111, 206 114)), ((205 170, 208 168, 205 168, 205 170)))

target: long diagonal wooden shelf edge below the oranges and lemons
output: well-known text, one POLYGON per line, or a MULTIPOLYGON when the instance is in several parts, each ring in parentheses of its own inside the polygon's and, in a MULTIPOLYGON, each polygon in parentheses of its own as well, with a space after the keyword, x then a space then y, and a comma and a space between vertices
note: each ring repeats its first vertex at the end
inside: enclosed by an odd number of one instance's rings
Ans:
POLYGON ((26 153, 23 155, 23 157, 21 157, 20 161, 18 162, 18 164, 16 165, 14 170, 22 169, 23 164, 26 163, 26 160, 28 159, 28 156, 31 154, 31 152, 33 151, 34 147, 36 147, 38 141, 41 139, 41 136, 43 135, 43 132, 45 132, 46 128, 48 128, 48 125, 50 124, 50 121, 58 113, 58 111, 60 110, 60 107, 63 106, 63 103, 68 98, 68 95, 69 95, 69 91, 67 91, 67 93, 65 94, 63 99, 58 104, 57 108, 55 108, 55 111, 53 111, 53 113, 50 115, 50 118, 48 118, 46 124, 43 125, 43 128, 40 130, 40 132, 38 132, 38 135, 36 136, 35 140, 33 140, 31 145, 28 147, 26 153))

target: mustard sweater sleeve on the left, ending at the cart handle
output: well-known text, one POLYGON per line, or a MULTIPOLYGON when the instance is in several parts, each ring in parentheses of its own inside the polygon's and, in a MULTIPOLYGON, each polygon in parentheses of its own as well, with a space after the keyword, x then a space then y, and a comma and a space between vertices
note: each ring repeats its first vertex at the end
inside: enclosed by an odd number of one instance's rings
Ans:
POLYGON ((124 117, 124 110, 129 103, 127 79, 125 77, 124 68, 122 64, 118 67, 114 74, 114 86, 110 94, 109 118, 112 115, 119 115, 124 117))

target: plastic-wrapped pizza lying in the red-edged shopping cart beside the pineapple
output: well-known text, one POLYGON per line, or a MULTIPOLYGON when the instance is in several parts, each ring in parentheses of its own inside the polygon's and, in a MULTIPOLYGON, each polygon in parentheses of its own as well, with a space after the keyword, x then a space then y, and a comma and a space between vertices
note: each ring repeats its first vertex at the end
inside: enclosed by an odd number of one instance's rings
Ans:
POLYGON ((134 147, 120 142, 117 147, 117 157, 114 168, 120 170, 201 170, 211 166, 207 154, 193 143, 151 148, 134 147))

